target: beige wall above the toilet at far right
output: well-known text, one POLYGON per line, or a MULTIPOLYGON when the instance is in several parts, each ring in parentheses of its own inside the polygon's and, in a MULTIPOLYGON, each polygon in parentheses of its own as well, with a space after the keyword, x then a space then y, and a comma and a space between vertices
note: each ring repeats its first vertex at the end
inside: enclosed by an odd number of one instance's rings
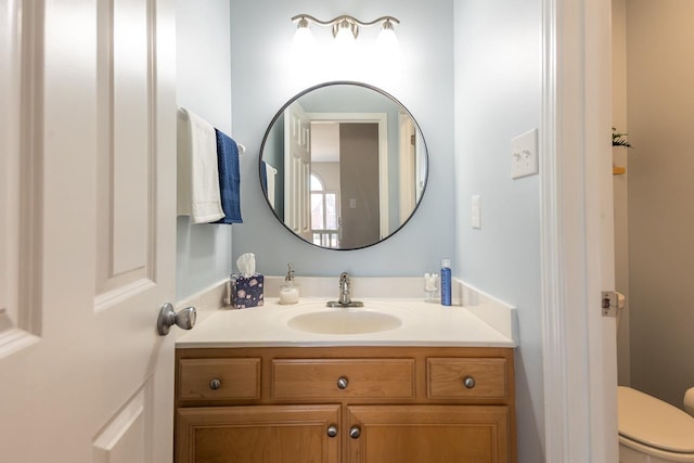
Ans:
POLYGON ((631 384, 694 386, 694 2, 627 2, 631 384))

